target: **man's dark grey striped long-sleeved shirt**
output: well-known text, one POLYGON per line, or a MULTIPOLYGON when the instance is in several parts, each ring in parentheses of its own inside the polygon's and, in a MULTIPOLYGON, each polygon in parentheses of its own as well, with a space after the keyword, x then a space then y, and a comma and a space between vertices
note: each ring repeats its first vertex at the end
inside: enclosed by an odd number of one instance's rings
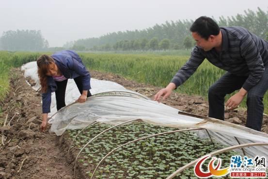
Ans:
POLYGON ((247 91, 260 80, 265 66, 268 67, 268 42, 242 27, 223 27, 220 30, 221 52, 214 48, 204 51, 196 46, 171 81, 176 87, 186 81, 205 59, 237 76, 248 76, 242 86, 247 91))

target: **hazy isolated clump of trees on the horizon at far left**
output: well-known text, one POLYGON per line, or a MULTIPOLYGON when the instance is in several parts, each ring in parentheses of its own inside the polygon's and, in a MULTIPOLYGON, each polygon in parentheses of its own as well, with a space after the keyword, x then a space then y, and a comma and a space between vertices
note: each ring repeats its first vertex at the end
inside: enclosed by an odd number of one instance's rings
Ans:
POLYGON ((41 31, 17 30, 4 32, 0 37, 0 49, 15 51, 37 51, 48 48, 48 42, 41 31))

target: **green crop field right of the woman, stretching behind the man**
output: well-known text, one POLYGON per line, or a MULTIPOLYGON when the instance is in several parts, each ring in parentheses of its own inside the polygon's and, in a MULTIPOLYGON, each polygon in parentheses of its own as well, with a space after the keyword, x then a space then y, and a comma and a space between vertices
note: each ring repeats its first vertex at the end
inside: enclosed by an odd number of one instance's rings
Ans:
MULTIPOLYGON (((155 54, 80 54, 88 69, 116 73, 138 82, 165 87, 177 70, 185 64, 189 56, 155 54)), ((205 60, 188 81, 178 87, 176 92, 200 95, 207 98, 210 85, 217 81, 225 71, 205 60)), ((234 93, 233 93, 234 94, 234 93)), ((232 95, 232 94, 231 94, 232 95)), ((231 95, 227 95, 225 99, 231 95)), ((246 98, 245 98, 246 99, 246 98)), ((241 107, 246 107, 246 100, 241 107)), ((264 97, 265 113, 268 113, 268 95, 264 97)))

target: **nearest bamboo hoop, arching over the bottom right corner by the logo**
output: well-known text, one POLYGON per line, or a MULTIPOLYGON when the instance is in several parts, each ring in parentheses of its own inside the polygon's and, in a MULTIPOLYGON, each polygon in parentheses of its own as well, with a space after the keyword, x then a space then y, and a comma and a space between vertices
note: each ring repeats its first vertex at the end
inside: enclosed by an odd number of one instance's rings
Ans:
MULTIPOLYGON (((236 145, 236 146, 229 146, 229 147, 222 148, 220 150, 211 152, 211 153, 209 153, 207 155, 214 156, 214 155, 220 154, 222 152, 226 152, 226 151, 233 150, 233 149, 236 149, 236 148, 250 147, 250 146, 268 146, 268 143, 248 143, 248 144, 241 144, 241 145, 236 145)), ((185 169, 193 166, 195 163, 197 163, 203 157, 204 156, 202 156, 202 157, 200 157, 200 158, 198 158, 198 159, 196 159, 196 160, 184 165, 183 167, 180 167, 178 170, 176 170, 173 174, 171 174, 166 179, 173 179, 178 173, 180 173, 180 172, 184 171, 185 169)))

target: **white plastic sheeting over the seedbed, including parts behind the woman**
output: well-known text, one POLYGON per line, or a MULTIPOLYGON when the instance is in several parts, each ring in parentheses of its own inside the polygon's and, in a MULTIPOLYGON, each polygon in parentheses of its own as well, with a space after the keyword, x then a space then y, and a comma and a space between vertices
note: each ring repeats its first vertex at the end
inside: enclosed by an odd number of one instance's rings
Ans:
MULTIPOLYGON (((24 70, 26 75, 32 74, 27 68, 24 70)), ((29 70, 36 71, 34 68, 29 70)), ((36 79, 34 74, 30 76, 36 79)), ((235 137, 241 144, 268 143, 268 134, 263 132, 217 119, 200 119, 178 114, 179 110, 126 90, 114 82, 92 80, 91 84, 91 92, 95 96, 88 98, 85 103, 66 106, 56 113, 50 120, 52 132, 61 135, 67 129, 82 129, 93 121, 115 125, 131 119, 142 119, 150 124, 173 128, 204 128, 209 131, 214 140, 227 146, 237 145, 235 137), (98 96, 99 93, 101 94, 98 96)), ((69 96, 72 97, 70 101, 79 97, 79 94, 76 98, 73 97, 75 94, 73 90, 76 88, 75 83, 72 86, 71 82, 68 82, 67 89, 70 90, 66 90, 67 101, 69 96)), ((197 133, 200 137, 207 137, 207 133, 202 130, 197 133)), ((250 156, 267 156, 268 153, 267 146, 250 147, 244 150, 250 156)))

